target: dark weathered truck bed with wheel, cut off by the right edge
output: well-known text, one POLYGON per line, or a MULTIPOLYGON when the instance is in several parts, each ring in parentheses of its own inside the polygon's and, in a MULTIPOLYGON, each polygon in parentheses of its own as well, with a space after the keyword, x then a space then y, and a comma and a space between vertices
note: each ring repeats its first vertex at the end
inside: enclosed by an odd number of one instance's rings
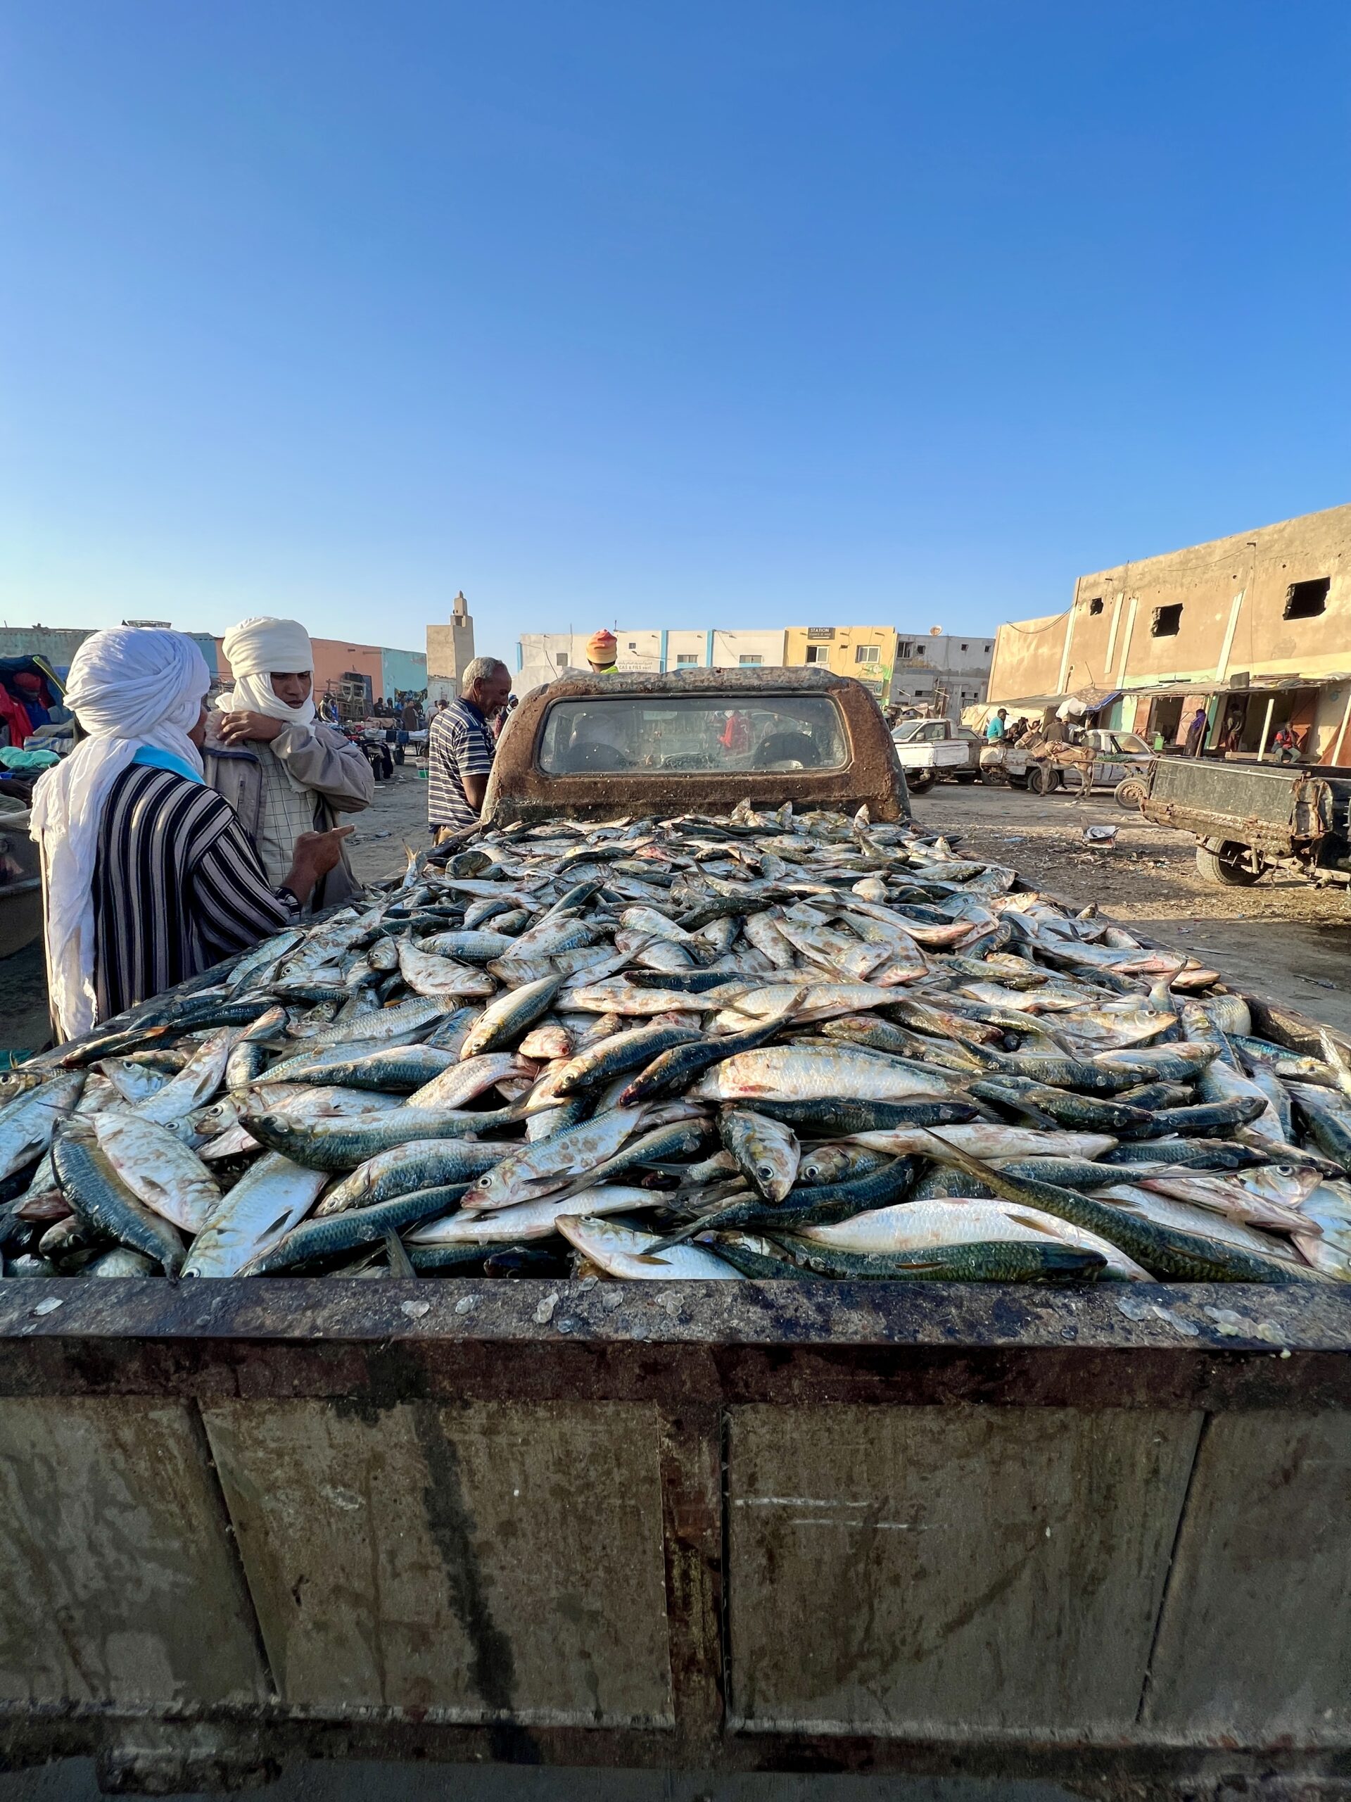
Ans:
POLYGON ((1310 881, 1351 881, 1351 769, 1160 757, 1146 820, 1196 834, 1209 881, 1256 883, 1268 869, 1310 881))

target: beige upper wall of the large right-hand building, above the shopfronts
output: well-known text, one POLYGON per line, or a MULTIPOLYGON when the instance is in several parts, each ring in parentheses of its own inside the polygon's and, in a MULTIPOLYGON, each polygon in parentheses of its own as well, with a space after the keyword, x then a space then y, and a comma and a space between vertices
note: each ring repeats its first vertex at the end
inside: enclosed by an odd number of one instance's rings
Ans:
POLYGON ((989 694, 1216 681, 1239 670, 1351 670, 1351 506, 1079 577, 1068 613, 1000 627, 989 694), (1324 613, 1286 620, 1290 584, 1320 577, 1331 582, 1324 613), (1155 636, 1155 609, 1178 604, 1178 633, 1155 636))

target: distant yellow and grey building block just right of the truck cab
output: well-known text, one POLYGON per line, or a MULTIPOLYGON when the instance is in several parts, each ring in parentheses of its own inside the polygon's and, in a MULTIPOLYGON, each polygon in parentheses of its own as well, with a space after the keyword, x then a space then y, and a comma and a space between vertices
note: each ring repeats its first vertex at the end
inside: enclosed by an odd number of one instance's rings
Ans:
POLYGON ((856 676, 881 706, 928 706, 960 715, 985 699, 993 638, 971 633, 902 633, 893 625, 789 625, 785 663, 825 663, 838 676, 856 676))

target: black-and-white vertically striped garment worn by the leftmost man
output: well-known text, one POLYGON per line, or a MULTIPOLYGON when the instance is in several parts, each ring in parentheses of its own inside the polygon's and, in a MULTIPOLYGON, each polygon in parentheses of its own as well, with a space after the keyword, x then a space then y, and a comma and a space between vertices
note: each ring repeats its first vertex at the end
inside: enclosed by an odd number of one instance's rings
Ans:
POLYGON ((171 769, 113 782, 94 867, 99 1020, 160 995, 297 915, 268 888, 234 809, 171 769))

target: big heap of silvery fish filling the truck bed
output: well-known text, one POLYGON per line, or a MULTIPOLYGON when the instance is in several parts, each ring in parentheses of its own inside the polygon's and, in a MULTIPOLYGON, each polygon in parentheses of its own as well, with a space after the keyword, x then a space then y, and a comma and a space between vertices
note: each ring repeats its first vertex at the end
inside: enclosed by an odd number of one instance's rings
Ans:
POLYGON ((0 1247, 49 1278, 1351 1279, 1319 1043, 866 811, 513 825, 22 1065, 0 1247))

